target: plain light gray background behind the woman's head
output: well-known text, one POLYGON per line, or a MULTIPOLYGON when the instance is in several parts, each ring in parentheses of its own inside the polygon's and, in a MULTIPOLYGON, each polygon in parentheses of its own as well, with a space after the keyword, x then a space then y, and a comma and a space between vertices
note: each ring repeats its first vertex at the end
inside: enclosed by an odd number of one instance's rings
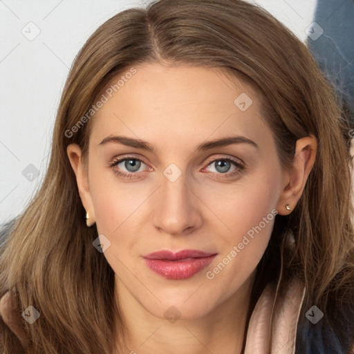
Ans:
MULTIPOLYGON (((106 19, 147 2, 0 0, 0 223, 23 211, 41 184, 59 98, 78 50, 106 19), (36 28, 32 41, 22 33, 29 37, 36 28), (30 175, 37 170, 37 178, 30 175)), ((250 2, 306 40, 316 0, 250 2)))

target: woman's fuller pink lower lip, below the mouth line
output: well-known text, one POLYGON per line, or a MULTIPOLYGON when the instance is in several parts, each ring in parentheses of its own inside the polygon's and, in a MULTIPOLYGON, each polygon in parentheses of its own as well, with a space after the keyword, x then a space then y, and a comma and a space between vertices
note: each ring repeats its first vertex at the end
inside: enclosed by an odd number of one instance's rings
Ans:
POLYGON ((212 263, 216 254, 209 257, 187 258, 180 261, 162 261, 160 259, 145 259, 147 266, 167 279, 187 279, 212 263))

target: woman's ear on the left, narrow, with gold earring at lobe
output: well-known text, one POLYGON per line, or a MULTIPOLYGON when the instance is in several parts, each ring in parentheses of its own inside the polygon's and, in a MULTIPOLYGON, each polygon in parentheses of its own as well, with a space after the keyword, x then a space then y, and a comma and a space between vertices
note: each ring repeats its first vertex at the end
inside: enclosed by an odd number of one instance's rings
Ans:
POLYGON ((73 171, 76 176, 77 188, 79 189, 79 195, 82 201, 82 205, 88 212, 89 219, 86 219, 86 224, 92 226, 95 223, 95 211, 93 209, 93 203, 90 193, 90 188, 88 184, 88 171, 87 163, 84 164, 82 161, 82 151, 77 144, 68 145, 66 148, 66 153, 73 167, 73 171))

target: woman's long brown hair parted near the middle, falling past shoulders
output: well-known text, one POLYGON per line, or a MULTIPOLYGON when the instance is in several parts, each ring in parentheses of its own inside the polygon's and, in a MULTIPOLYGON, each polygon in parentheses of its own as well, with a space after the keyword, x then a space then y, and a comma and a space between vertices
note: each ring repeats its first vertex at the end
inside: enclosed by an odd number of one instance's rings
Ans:
MULTIPOLYGON (((86 156, 95 118, 82 117, 114 77, 145 62, 222 68, 231 79, 252 84, 285 169, 297 139, 317 138, 299 203, 289 216, 276 217, 252 304, 268 281, 297 277, 307 290, 300 322, 316 305, 348 352, 354 337, 351 159, 348 124, 333 88, 306 46, 258 6, 159 0, 118 13, 80 50, 59 104, 44 183, 1 250, 0 296, 14 289, 18 314, 30 305, 41 313, 35 324, 23 323, 30 353, 112 353, 115 342, 123 342, 114 273, 93 248, 97 229, 86 227, 66 147, 77 143, 86 156), (291 252, 284 236, 289 229, 295 235, 291 252)), ((2 321, 0 328, 1 349, 13 353, 16 337, 2 321)))

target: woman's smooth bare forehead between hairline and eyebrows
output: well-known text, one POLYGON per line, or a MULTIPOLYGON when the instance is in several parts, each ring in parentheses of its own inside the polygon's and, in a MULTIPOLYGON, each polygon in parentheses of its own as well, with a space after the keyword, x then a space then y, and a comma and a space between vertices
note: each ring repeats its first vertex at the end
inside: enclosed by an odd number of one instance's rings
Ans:
POLYGON ((253 140, 268 129, 257 93, 219 68, 141 64, 134 69, 133 75, 125 75, 132 72, 127 69, 115 77, 105 91, 106 103, 92 122, 93 141, 117 133, 151 142, 231 133, 253 140))

